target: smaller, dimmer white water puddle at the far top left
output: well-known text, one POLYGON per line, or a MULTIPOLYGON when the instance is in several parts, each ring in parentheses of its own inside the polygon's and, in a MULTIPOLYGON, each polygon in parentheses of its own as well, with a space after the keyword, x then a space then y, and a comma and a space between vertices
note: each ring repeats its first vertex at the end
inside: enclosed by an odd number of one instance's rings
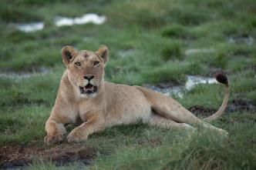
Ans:
POLYGON ((19 29, 19 31, 22 31, 22 32, 35 32, 38 30, 42 30, 45 24, 43 22, 32 22, 32 23, 21 23, 21 24, 11 23, 11 24, 8 24, 8 26, 17 28, 19 29))

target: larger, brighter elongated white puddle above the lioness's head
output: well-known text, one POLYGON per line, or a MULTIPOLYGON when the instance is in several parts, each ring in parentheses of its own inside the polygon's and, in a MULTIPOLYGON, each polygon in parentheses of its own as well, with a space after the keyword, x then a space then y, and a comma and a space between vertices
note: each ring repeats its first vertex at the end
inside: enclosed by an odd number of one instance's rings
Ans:
POLYGON ((86 14, 80 18, 66 18, 61 16, 56 16, 55 18, 55 25, 62 26, 62 25, 83 25, 87 23, 93 23, 96 25, 101 25, 106 22, 105 16, 99 16, 96 14, 86 14))

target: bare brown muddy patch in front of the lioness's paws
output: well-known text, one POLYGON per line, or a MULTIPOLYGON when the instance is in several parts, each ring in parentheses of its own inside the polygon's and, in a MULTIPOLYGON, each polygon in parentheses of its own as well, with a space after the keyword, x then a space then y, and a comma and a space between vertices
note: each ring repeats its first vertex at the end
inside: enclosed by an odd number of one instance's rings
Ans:
POLYGON ((95 155, 95 149, 84 145, 57 145, 53 148, 5 146, 0 149, 0 168, 18 168, 36 159, 52 161, 56 165, 74 161, 89 164, 95 155))

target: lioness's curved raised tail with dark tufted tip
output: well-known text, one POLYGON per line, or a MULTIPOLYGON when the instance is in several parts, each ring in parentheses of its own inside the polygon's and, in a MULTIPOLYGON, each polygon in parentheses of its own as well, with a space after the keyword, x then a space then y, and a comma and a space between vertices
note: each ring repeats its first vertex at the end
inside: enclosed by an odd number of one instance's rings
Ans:
POLYGON ((215 75, 215 78, 217 82, 221 82, 222 84, 225 85, 224 100, 222 102, 221 108, 219 108, 218 111, 214 113, 214 115, 211 115, 210 117, 203 119, 205 122, 211 122, 212 120, 219 118, 227 106, 227 101, 229 97, 229 84, 228 84, 227 76, 224 75, 223 73, 217 72, 215 75))

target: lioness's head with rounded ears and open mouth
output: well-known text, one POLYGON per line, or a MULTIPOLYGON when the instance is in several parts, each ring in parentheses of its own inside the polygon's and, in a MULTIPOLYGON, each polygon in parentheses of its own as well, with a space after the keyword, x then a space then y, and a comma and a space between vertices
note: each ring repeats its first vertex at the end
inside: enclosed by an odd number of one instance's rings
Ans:
POLYGON ((63 62, 67 67, 69 82, 83 98, 93 98, 103 82, 104 68, 109 50, 105 45, 98 52, 76 52, 71 46, 62 48, 63 62))

